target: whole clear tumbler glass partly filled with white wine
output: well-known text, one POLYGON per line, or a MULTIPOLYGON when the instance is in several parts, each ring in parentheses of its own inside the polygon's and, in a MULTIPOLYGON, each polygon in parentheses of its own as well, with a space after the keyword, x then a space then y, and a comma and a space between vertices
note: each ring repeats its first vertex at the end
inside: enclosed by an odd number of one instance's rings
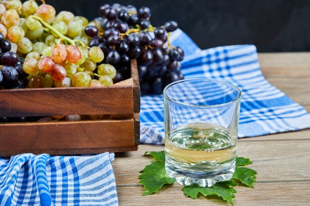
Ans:
POLYGON ((240 89, 189 79, 167 85, 163 93, 168 176, 202 187, 229 180, 236 165, 240 89))

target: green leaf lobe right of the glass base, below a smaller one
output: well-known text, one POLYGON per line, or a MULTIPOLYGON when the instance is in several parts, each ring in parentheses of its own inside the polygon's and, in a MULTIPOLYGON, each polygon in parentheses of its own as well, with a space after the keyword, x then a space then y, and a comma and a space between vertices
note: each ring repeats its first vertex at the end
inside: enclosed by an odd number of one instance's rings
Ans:
POLYGON ((236 166, 235 172, 231 177, 232 180, 239 180, 243 184, 254 188, 253 184, 256 183, 256 174, 257 171, 250 169, 248 167, 239 167, 236 166))

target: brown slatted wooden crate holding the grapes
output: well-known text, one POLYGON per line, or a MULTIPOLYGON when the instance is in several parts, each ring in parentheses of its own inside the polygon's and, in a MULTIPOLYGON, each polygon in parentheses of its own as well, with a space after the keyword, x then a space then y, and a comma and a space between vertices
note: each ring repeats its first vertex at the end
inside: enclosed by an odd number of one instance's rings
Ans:
POLYGON ((137 63, 131 78, 107 87, 0 90, 0 117, 102 115, 105 120, 0 124, 0 157, 124 152, 140 141, 140 85, 137 63))

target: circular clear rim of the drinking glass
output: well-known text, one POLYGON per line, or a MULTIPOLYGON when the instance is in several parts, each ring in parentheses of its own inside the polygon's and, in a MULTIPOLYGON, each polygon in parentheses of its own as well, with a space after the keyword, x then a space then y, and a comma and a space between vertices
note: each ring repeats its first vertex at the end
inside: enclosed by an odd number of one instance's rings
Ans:
POLYGON ((166 98, 168 101, 170 101, 170 102, 172 102, 172 103, 175 103, 175 104, 178 104, 178 105, 187 106, 187 107, 210 108, 210 107, 223 107, 223 106, 227 106, 227 105, 233 104, 234 102, 238 101, 238 100, 241 98, 241 90, 240 90, 237 86, 235 86, 234 84, 229 83, 229 82, 225 82, 225 81, 222 81, 222 80, 214 80, 214 79, 208 79, 208 78, 193 78, 193 79, 179 80, 179 81, 172 82, 172 83, 168 84, 168 85, 163 89, 163 96, 164 96, 164 98, 166 98), (234 89, 238 92, 238 96, 237 96, 236 98, 234 98, 233 100, 231 100, 231 101, 229 101, 229 102, 222 103, 222 104, 196 105, 196 104, 188 104, 188 103, 184 103, 184 102, 181 102, 181 101, 177 101, 177 100, 171 99, 171 98, 167 95, 166 90, 167 90, 169 87, 171 87, 171 86, 173 86, 173 85, 175 85, 175 84, 181 83, 181 82, 192 82, 192 81, 215 82, 215 83, 219 83, 219 84, 228 85, 228 86, 234 88, 234 89))

